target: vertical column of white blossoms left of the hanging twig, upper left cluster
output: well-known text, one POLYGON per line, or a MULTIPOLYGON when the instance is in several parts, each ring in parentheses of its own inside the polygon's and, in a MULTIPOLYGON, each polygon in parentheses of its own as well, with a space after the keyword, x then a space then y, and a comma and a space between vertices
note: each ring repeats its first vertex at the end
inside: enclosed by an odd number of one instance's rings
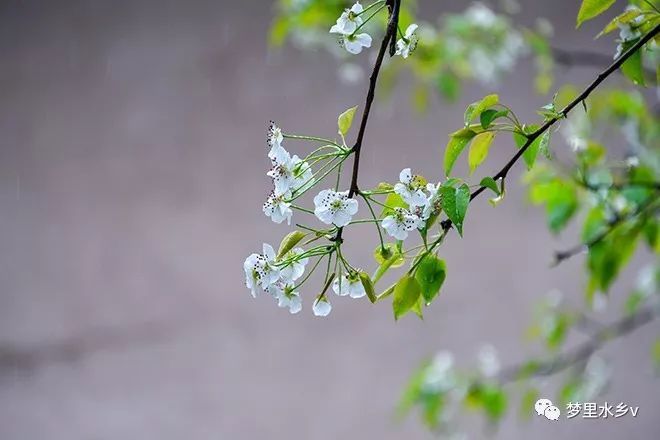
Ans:
POLYGON ((314 184, 312 168, 298 156, 293 157, 282 146, 284 135, 282 130, 270 122, 268 127, 267 145, 270 147, 268 158, 272 168, 266 173, 273 179, 273 190, 263 205, 263 212, 275 223, 284 220, 291 224, 293 211, 290 199, 295 191, 304 191, 314 184))

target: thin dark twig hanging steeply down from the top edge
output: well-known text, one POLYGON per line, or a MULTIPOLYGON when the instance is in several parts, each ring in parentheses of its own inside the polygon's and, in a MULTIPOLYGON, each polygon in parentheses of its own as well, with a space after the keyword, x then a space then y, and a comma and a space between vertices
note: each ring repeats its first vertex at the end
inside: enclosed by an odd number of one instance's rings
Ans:
MULTIPOLYGON (((367 99, 364 105, 364 111, 362 112, 362 120, 360 121, 360 129, 353 145, 352 151, 354 154, 353 158, 353 172, 351 175, 351 184, 348 190, 348 197, 353 197, 358 193, 358 172, 360 168, 360 152, 362 151, 362 141, 364 140, 364 134, 367 130, 367 122, 369 121, 369 114, 371 112, 371 105, 373 104, 374 97, 376 96, 376 84, 378 83, 378 74, 380 73, 380 68, 383 65, 383 59, 385 58, 385 53, 387 52, 389 42, 396 42, 396 32, 399 22, 399 10, 401 8, 401 0, 390 0, 388 1, 388 6, 390 9, 390 19, 387 23, 387 29, 385 30, 385 35, 383 36, 383 41, 380 43, 380 49, 378 50, 378 56, 376 57, 376 62, 374 63, 374 68, 371 72, 371 77, 369 78, 369 91, 367 92, 367 99)), ((391 49, 391 47, 390 47, 391 49)), ((337 230, 337 235, 333 238, 333 241, 341 243, 342 233, 344 229, 339 228, 337 230)))

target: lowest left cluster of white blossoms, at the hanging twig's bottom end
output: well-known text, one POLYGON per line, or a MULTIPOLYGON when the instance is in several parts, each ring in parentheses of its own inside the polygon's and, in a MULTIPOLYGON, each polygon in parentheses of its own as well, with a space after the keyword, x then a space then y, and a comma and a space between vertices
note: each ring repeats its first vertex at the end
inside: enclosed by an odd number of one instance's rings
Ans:
POLYGON ((263 245, 262 254, 252 254, 245 259, 245 284, 251 290, 254 298, 260 292, 265 292, 275 298, 280 307, 286 307, 291 313, 302 309, 300 293, 295 289, 295 281, 305 272, 307 258, 296 258, 301 255, 301 248, 294 248, 279 260, 290 261, 280 267, 275 256, 275 250, 267 243, 263 245))

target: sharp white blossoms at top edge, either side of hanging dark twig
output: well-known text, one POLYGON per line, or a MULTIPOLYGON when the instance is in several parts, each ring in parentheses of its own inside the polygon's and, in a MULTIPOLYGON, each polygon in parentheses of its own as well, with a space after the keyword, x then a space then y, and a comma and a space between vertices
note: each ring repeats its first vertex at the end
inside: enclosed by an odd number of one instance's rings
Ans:
MULTIPOLYGON (((362 29, 365 24, 362 14, 374 5, 365 9, 360 2, 355 2, 350 9, 346 9, 341 13, 337 22, 330 28, 331 34, 339 35, 339 44, 346 49, 348 53, 357 55, 362 52, 363 48, 371 47, 373 40, 371 35, 366 32, 357 32, 362 29)), ((384 5, 380 6, 381 9, 383 7, 384 5)), ((408 26, 406 33, 396 42, 397 55, 401 55, 403 58, 408 58, 408 56, 413 53, 419 41, 417 27, 416 24, 408 26)))

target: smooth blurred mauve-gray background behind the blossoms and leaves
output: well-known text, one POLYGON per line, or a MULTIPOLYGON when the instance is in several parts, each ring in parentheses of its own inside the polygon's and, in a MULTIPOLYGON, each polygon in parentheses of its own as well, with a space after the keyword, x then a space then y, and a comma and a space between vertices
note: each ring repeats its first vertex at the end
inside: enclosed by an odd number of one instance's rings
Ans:
MULTIPOLYGON (((577 3, 526 1, 519 19, 549 18, 560 47, 611 53, 611 41, 592 40, 598 23, 574 30, 577 3)), ((465 6, 420 1, 420 15, 465 6)), ((581 259, 548 264, 575 231, 551 237, 513 180, 504 204, 478 200, 465 238, 447 240, 449 277, 423 322, 394 323, 388 303, 347 299, 318 319, 309 290, 296 316, 253 300, 242 261, 287 232, 261 213, 266 121, 332 136, 336 115, 366 93, 365 82, 342 84, 323 53, 270 51, 272 13, 256 0, 0 4, 3 440, 433 438, 415 416, 393 418, 423 358, 447 349, 470 365, 491 342, 504 364, 520 361, 539 353, 523 337, 534 304, 553 289, 581 303, 581 259)), ((500 95, 533 119, 547 97, 531 92, 530 62, 520 66, 500 95)), ((403 81, 373 114, 365 185, 404 165, 439 177, 447 133, 491 91, 471 87, 457 105, 434 98, 418 117, 407 90, 403 81)), ((511 152, 498 143, 488 166, 511 152)), ((373 230, 347 238, 353 261, 372 268, 373 230)), ((604 319, 630 283, 615 286, 604 319)), ((604 352, 614 384, 599 401, 640 406, 636 419, 520 423, 512 402, 499 431, 478 422, 471 437, 658 438, 649 348, 659 329, 604 352)), ((539 383, 549 397, 556 385, 539 383)))

